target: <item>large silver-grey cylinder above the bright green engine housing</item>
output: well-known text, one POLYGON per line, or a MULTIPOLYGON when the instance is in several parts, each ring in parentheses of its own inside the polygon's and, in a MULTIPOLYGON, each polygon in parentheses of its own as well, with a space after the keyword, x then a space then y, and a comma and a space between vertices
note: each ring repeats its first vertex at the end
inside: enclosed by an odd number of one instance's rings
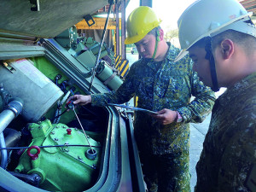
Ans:
POLYGON ((21 115, 37 122, 61 98, 63 92, 26 59, 0 65, 0 83, 13 97, 24 102, 21 115))

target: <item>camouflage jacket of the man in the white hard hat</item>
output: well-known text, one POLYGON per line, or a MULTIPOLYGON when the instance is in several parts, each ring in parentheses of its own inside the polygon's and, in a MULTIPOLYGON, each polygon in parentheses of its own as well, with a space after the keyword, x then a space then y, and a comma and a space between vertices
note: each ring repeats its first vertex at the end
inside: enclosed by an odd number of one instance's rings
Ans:
POLYGON ((195 191, 256 191, 256 73, 216 100, 195 191))

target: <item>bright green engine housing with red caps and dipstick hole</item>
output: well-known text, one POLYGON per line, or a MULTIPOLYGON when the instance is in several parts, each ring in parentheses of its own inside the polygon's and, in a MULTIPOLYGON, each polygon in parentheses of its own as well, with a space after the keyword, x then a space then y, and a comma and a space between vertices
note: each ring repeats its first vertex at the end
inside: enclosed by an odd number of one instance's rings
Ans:
POLYGON ((52 125, 49 120, 32 123, 28 130, 32 143, 21 155, 15 172, 37 174, 39 187, 49 191, 82 191, 96 181, 100 143, 77 128, 52 125))

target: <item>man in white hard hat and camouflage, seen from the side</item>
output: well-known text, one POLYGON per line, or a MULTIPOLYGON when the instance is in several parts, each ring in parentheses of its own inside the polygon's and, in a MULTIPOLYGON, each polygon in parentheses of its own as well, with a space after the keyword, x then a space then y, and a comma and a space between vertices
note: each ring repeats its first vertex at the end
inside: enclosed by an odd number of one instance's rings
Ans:
POLYGON ((227 87, 212 109, 195 191, 256 191, 255 26, 236 0, 197 1, 178 26, 183 51, 176 61, 188 50, 205 84, 227 87))

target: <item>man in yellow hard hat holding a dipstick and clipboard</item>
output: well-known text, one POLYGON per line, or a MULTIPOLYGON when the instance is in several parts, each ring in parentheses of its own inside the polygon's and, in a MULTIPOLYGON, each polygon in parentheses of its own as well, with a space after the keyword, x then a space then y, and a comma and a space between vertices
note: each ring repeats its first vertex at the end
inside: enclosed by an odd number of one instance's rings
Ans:
POLYGON ((138 97, 134 128, 149 191, 189 191, 189 122, 201 122, 211 112, 214 93, 192 71, 188 57, 174 63, 180 49, 166 44, 153 10, 135 9, 127 20, 128 38, 142 59, 135 62, 116 91, 73 96, 74 104, 125 103, 138 97), (191 95, 195 100, 190 102, 191 95))

